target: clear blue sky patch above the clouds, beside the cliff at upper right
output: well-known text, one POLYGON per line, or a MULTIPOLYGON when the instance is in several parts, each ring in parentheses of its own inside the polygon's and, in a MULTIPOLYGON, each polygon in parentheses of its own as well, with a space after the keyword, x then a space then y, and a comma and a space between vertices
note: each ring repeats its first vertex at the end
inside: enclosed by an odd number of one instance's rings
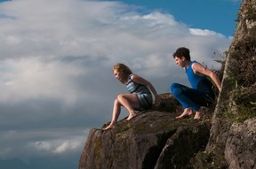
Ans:
MULTIPOLYGON (((118 1, 117 1, 118 2, 118 1)), ((142 11, 159 10, 171 13, 189 27, 209 29, 222 35, 234 35, 236 14, 241 0, 123 0, 138 5, 142 11)))

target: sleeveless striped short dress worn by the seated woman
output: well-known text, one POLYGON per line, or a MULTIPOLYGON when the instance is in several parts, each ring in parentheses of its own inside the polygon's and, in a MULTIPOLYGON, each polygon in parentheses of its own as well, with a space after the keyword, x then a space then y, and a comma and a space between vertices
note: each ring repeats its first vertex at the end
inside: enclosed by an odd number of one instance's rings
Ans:
POLYGON ((148 86, 138 84, 131 79, 132 74, 129 75, 126 87, 128 91, 135 94, 140 104, 140 110, 146 110, 151 107, 153 98, 148 86))

